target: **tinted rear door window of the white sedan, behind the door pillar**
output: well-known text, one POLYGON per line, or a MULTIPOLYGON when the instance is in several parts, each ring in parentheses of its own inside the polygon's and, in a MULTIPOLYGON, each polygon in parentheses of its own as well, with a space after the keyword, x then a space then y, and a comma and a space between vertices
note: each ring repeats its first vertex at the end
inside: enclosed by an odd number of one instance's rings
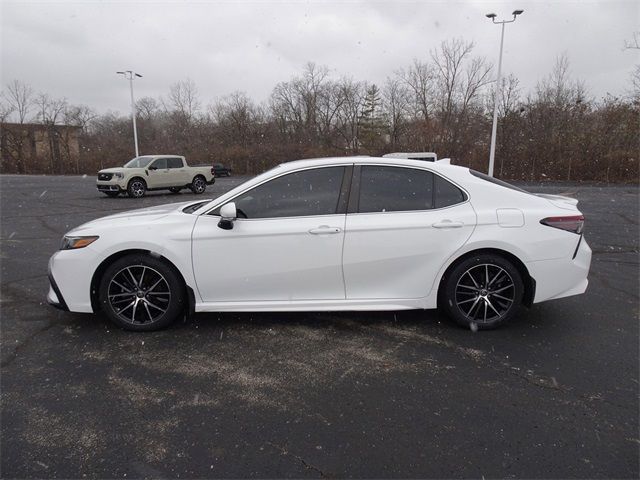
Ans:
POLYGON ((401 212, 431 208, 431 172, 401 167, 362 167, 359 212, 401 212))

